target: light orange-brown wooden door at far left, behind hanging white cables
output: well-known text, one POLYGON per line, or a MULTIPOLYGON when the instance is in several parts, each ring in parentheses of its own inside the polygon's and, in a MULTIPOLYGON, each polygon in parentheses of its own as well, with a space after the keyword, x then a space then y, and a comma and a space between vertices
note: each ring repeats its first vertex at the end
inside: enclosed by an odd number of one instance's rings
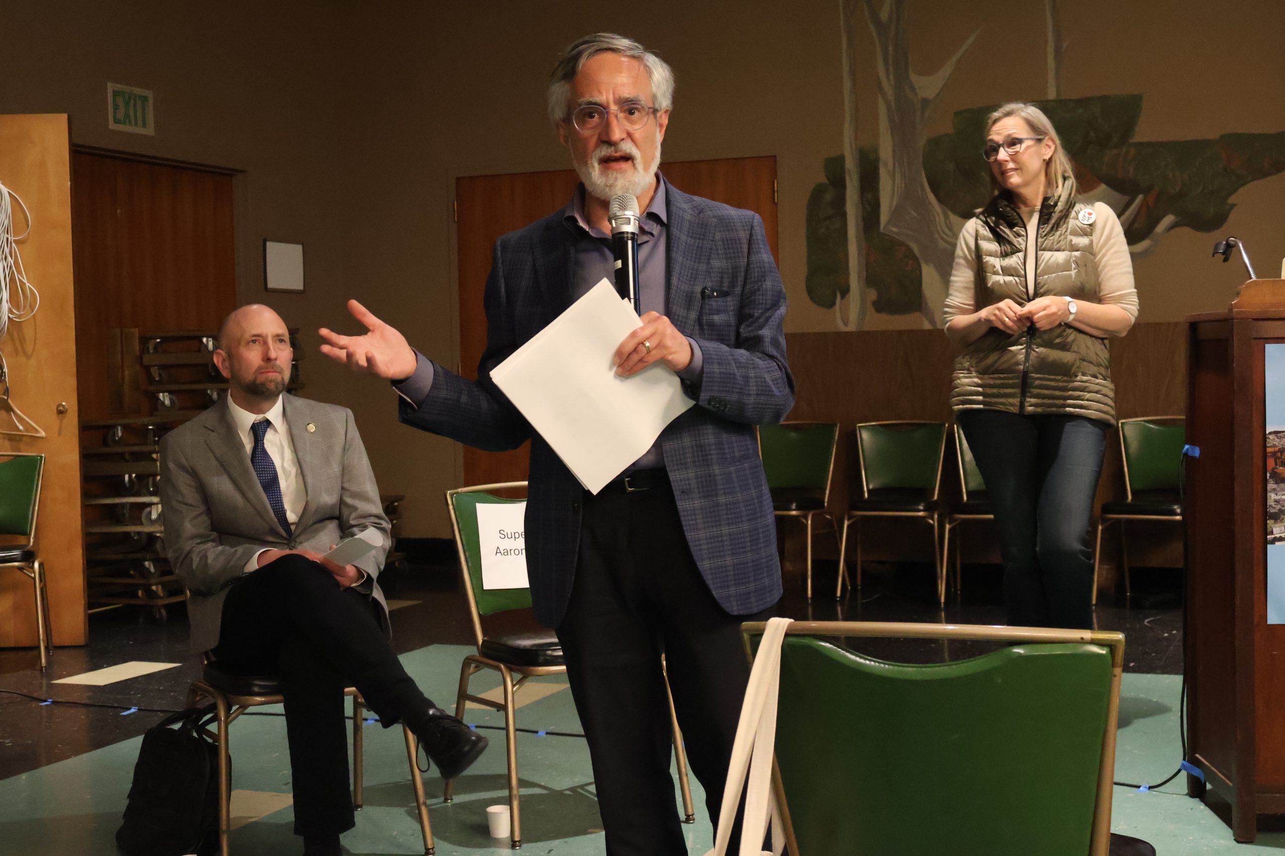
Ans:
MULTIPOLYGON (((87 631, 69 155, 66 116, 0 116, 0 182, 22 198, 35 221, 18 248, 27 277, 40 290, 40 311, 30 321, 10 323, 0 350, 9 364, 14 403, 46 434, 0 436, 0 449, 46 456, 36 536, 48 575, 51 638, 59 646, 85 644, 87 631), (66 415, 58 415, 59 403, 67 404, 66 415)), ((21 221, 21 212, 14 216, 21 221)), ((18 231, 23 227, 17 223, 18 231)), ((18 571, 0 571, 0 646, 35 644, 31 581, 18 571)))

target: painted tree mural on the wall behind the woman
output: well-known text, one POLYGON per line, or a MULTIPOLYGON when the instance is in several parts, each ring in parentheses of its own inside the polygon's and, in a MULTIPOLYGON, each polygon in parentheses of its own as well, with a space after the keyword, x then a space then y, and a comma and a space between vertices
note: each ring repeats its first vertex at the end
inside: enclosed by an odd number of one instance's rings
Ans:
MULTIPOLYGON (((825 181, 807 205, 807 294, 833 308, 839 330, 879 314, 923 314, 942 326, 955 240, 991 196, 979 157, 982 128, 996 104, 956 110, 950 133, 926 137, 928 117, 977 32, 930 76, 910 69, 907 0, 839 0, 843 32, 844 153, 826 158, 825 181), (856 141, 855 27, 874 33, 879 145, 856 141), (870 300, 870 293, 874 299, 870 300)), ((1214 140, 1135 142, 1142 95, 1060 98, 1058 0, 1046 0, 1049 100, 1037 101, 1076 163, 1081 199, 1119 216, 1136 258, 1156 252, 1165 234, 1221 228, 1232 194, 1285 172, 1285 131, 1223 133, 1214 140)))

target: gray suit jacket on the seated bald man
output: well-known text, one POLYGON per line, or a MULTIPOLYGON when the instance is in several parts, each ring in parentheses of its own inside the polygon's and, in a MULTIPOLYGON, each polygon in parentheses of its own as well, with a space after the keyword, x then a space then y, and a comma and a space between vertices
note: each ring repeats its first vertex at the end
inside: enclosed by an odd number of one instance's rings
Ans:
POLYGON ((188 589, 193 651, 218 644, 224 598, 256 552, 302 548, 325 553, 362 529, 383 535, 383 544, 356 565, 369 576, 388 629, 388 604, 375 578, 392 544, 392 527, 352 412, 289 394, 284 398, 285 422, 307 490, 293 535, 287 535, 272 515, 226 402, 161 440, 164 551, 188 589), (308 431, 308 425, 315 430, 308 431))

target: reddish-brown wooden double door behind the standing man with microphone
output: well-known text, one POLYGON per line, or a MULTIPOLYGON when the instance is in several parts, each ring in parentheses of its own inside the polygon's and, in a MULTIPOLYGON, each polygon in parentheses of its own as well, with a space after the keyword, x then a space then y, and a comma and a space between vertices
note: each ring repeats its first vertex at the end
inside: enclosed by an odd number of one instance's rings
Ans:
MULTIPOLYGON (((756 212, 763 218, 772 255, 779 258, 775 157, 667 163, 662 172, 684 193, 756 212)), ((477 377, 478 359, 486 349, 482 295, 496 239, 564 207, 578 181, 573 169, 559 169, 472 176, 455 182, 460 267, 459 370, 465 377, 477 377)), ((527 477, 527 445, 501 453, 464 447, 464 484, 520 481, 527 477)))

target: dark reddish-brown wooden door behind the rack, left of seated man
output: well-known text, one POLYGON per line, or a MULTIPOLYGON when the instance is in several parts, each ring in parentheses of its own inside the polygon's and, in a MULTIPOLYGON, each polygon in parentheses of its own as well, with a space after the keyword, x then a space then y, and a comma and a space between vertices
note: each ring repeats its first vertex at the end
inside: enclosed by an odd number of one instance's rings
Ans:
POLYGON ((81 418, 132 415, 109 331, 211 330, 236 305, 233 173, 77 150, 72 175, 81 418))

